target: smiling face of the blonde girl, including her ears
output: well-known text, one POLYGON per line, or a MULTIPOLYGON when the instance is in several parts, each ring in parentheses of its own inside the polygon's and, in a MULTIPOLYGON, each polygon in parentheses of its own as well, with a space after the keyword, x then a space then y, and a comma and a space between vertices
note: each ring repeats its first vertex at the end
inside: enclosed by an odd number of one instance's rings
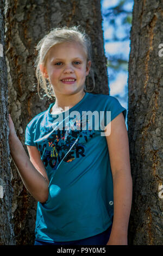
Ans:
POLYGON ((40 65, 40 69, 52 84, 54 93, 71 95, 83 92, 90 66, 90 61, 86 65, 82 46, 77 42, 62 42, 50 48, 46 67, 40 65))

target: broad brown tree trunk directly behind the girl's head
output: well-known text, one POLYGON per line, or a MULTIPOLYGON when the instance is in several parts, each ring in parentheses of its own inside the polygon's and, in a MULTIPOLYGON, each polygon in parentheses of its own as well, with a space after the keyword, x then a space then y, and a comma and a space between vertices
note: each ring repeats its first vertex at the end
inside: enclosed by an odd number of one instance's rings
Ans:
MULTIPOLYGON (((92 40, 93 68, 96 67, 94 93, 109 94, 99 0, 6 0, 9 112, 22 144, 29 121, 52 103, 47 96, 41 100, 37 95, 34 47, 50 29, 73 25, 81 25, 92 40)), ((91 83, 89 78, 87 90, 92 89, 91 83)), ((21 182, 13 162, 11 169, 16 243, 33 244, 36 201, 21 182)))

